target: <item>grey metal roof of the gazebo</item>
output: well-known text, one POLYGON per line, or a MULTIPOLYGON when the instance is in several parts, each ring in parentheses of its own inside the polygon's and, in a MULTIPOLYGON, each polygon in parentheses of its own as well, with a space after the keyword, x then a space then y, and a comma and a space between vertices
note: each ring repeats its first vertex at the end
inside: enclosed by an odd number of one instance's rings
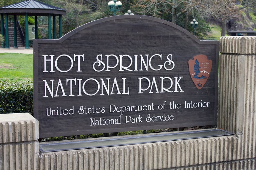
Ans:
POLYGON ((66 10, 35 0, 28 0, 4 6, 0 8, 0 13, 7 13, 8 15, 25 15, 27 13, 32 16, 46 16, 47 14, 65 15, 66 10))

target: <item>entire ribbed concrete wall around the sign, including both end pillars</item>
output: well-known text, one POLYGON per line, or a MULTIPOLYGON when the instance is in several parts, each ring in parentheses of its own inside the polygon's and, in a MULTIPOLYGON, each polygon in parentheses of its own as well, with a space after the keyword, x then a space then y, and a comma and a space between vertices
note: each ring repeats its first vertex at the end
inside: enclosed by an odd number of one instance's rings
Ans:
POLYGON ((256 169, 256 37, 221 37, 218 128, 232 136, 39 152, 38 121, 0 115, 0 169, 256 169))

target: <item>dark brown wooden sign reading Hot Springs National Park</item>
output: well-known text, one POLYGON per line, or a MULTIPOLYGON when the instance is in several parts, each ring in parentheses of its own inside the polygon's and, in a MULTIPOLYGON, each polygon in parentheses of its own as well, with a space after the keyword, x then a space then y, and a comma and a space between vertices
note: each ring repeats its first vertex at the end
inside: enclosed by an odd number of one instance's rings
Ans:
POLYGON ((216 124, 219 41, 120 15, 33 44, 40 137, 216 124))

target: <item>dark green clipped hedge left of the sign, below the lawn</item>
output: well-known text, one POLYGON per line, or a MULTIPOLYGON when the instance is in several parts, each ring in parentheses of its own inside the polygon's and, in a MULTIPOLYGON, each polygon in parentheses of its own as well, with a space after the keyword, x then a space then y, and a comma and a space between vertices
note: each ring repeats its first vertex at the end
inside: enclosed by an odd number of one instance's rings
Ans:
POLYGON ((25 112, 33 115, 33 82, 0 81, 0 114, 25 112))

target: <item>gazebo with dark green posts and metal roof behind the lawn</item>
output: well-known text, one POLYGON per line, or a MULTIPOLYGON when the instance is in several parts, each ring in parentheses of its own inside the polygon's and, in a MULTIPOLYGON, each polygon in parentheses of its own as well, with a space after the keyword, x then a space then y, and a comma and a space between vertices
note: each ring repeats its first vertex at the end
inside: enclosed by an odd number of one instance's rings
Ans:
MULTIPOLYGON (((0 8, 1 14, 1 34, 4 35, 5 26, 5 48, 9 48, 9 32, 8 32, 8 15, 14 16, 14 48, 17 46, 17 16, 25 16, 25 48, 29 48, 28 43, 28 16, 35 16, 35 38, 38 39, 38 22, 37 16, 48 16, 48 38, 52 39, 52 22, 53 16, 53 39, 56 39, 56 16, 59 16, 59 33, 62 36, 62 15, 66 14, 66 10, 52 5, 44 4, 34 0, 23 1, 20 3, 4 6, 0 8), (5 15, 5 25, 4 25, 5 15)), ((4 47, 3 47, 4 48, 4 47)))

